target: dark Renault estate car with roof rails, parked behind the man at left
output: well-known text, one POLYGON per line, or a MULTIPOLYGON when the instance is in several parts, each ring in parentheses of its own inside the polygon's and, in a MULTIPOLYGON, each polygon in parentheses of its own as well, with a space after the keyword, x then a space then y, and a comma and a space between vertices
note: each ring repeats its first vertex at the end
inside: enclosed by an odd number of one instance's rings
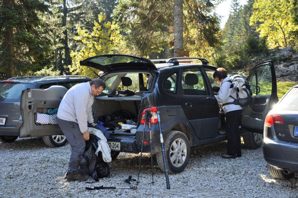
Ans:
MULTIPOLYGON (((67 91, 75 84, 91 80, 92 79, 87 76, 70 75, 21 76, 0 81, 0 142, 13 142, 18 137, 43 136, 43 141, 48 146, 57 147, 64 145, 66 138, 60 130, 48 131, 47 133, 39 133, 32 130, 27 131, 27 126, 34 123, 23 124, 20 110, 22 91, 28 88, 48 89, 54 85, 63 86, 62 89, 67 91)), ((42 95, 38 95, 37 97, 42 97, 42 95)), ((29 106, 32 103, 30 97, 28 100, 26 106, 27 108, 30 108, 29 106)), ((51 99, 44 101, 44 103, 46 102, 51 103, 51 99)), ((34 109, 31 110, 35 111, 34 109)))

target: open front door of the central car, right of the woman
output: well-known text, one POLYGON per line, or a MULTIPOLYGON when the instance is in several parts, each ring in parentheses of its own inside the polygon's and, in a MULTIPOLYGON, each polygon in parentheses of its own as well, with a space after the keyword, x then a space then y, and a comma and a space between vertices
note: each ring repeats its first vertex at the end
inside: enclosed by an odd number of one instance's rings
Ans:
POLYGON ((251 84, 253 103, 243 108, 242 126, 247 131, 263 133, 266 115, 278 102, 273 62, 265 61, 256 65, 247 81, 251 84))

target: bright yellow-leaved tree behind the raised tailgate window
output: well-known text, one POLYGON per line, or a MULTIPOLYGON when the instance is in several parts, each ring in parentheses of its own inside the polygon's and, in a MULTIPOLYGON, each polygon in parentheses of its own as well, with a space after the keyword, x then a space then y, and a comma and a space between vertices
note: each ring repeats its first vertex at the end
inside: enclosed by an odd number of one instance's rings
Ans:
MULTIPOLYGON (((75 40, 80 43, 80 50, 71 51, 72 65, 69 65, 72 74, 94 76, 86 66, 81 66, 80 61, 96 55, 115 53, 122 46, 120 30, 115 22, 104 22, 105 16, 98 15, 98 23, 94 21, 93 31, 78 28, 79 36, 75 40)), ((97 71, 98 72, 98 71, 97 71)))

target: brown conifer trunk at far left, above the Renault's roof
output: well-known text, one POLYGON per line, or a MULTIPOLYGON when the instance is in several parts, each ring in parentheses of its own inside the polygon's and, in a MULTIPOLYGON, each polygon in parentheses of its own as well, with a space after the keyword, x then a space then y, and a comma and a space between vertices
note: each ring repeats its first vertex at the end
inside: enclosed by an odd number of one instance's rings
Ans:
MULTIPOLYGON (((3 0, 4 7, 12 9, 13 0, 3 0)), ((10 19, 6 18, 4 22, 4 41, 3 41, 3 51, 4 51, 4 62, 6 62, 7 68, 7 78, 15 77, 15 54, 12 45, 13 39, 13 27, 11 25, 10 19)))

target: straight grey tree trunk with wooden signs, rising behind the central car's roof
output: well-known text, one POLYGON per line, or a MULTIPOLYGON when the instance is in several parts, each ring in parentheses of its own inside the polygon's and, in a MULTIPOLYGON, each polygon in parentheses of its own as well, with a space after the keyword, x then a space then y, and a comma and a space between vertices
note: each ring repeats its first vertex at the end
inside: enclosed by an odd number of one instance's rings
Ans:
POLYGON ((174 0, 174 57, 177 49, 183 50, 183 0, 174 0))

